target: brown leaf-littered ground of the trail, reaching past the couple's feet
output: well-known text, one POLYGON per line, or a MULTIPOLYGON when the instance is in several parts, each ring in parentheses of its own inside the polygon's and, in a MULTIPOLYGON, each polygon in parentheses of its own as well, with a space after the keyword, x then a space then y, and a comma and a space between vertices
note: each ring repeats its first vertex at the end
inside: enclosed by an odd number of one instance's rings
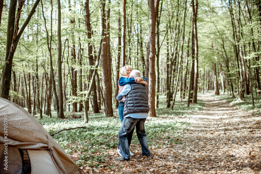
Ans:
POLYGON ((261 174, 260 114, 242 111, 212 94, 198 96, 204 107, 188 116, 191 125, 182 130, 181 144, 155 140, 162 146, 150 148, 151 157, 142 156, 140 146, 131 145, 135 155, 128 162, 116 161, 116 149, 109 149, 100 167, 81 169, 85 173, 261 174))

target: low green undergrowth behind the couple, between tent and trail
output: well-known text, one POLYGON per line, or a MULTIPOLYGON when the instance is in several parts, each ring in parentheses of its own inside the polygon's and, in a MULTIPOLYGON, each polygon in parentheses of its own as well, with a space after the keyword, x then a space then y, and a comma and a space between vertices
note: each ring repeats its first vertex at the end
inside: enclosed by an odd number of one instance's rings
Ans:
MULTIPOLYGON (((182 143, 180 137, 185 136, 183 130, 187 130, 190 125, 187 116, 203 107, 203 102, 198 101, 198 104, 192 104, 186 108, 186 102, 177 99, 174 109, 171 110, 166 108, 165 99, 165 96, 159 97, 160 104, 156 109, 156 117, 147 118, 145 122, 147 139, 152 140, 148 141, 150 148, 182 143)), ((75 161, 77 165, 98 167, 104 162, 107 151, 117 147, 118 131, 121 126, 118 110, 114 110, 113 117, 105 117, 104 113, 90 113, 88 124, 83 124, 84 112, 65 112, 65 117, 67 117, 65 119, 58 119, 55 114, 53 111, 52 118, 44 115, 42 119, 39 119, 39 114, 36 115, 49 134, 65 128, 86 126, 86 129, 65 130, 52 136, 67 154, 79 153, 80 157, 75 161), (81 115, 81 118, 72 118, 72 115, 81 115), (99 155, 90 155, 97 153, 99 155)), ((132 144, 139 145, 135 131, 132 144)))

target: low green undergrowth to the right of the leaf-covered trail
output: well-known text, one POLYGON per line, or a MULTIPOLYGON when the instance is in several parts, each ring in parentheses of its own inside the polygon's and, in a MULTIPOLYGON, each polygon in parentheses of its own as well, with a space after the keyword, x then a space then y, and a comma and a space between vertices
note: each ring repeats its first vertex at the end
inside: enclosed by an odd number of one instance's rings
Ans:
POLYGON ((259 115, 261 115, 261 95, 256 95, 256 93, 254 93, 253 97, 255 107, 252 106, 251 95, 245 94, 243 101, 239 101, 238 98, 236 98, 236 93, 234 93, 234 96, 235 98, 233 98, 230 94, 225 93, 218 95, 217 98, 226 100, 228 103, 238 106, 241 110, 253 111, 254 114, 259 113, 259 115))

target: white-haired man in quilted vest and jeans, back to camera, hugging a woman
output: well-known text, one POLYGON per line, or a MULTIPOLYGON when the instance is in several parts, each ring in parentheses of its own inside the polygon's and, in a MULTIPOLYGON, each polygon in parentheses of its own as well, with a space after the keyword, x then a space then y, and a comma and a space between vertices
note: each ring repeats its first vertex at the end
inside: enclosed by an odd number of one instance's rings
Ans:
MULTIPOLYGON (((140 71, 132 70, 129 77, 141 77, 140 71)), ((148 148, 147 135, 145 134, 144 123, 149 112, 148 95, 146 87, 143 84, 126 84, 117 96, 117 100, 126 97, 124 105, 124 119, 119 130, 120 154, 118 161, 130 161, 128 134, 132 133, 136 126, 136 133, 141 145, 141 153, 147 157, 150 156, 148 148)))

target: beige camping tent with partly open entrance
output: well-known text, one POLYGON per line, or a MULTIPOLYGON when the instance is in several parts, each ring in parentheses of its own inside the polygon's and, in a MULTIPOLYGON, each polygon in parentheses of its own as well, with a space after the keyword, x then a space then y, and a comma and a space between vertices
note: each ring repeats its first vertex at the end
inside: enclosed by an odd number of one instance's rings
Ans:
POLYGON ((1 174, 75 174, 78 169, 31 114, 0 98, 1 174))

